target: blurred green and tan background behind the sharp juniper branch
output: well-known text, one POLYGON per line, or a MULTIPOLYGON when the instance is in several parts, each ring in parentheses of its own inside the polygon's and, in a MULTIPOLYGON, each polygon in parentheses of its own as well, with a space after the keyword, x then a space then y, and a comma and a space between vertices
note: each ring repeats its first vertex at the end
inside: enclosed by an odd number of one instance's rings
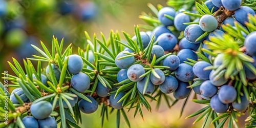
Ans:
MULTIPOLYGON (((22 62, 24 58, 32 57, 32 54, 36 55, 37 52, 30 44, 39 46, 40 40, 50 48, 53 35, 58 40, 63 37, 65 45, 72 42, 74 50, 77 47, 84 48, 86 45, 84 31, 87 31, 91 37, 94 33, 100 36, 100 32, 108 37, 111 29, 125 31, 133 36, 134 25, 145 24, 138 16, 142 11, 150 12, 147 3, 166 6, 165 0, 0 0, 0 72, 8 71, 9 74, 14 74, 7 61, 12 62, 14 57, 22 62)), ((2 79, 0 81, 3 82, 2 79)), ((169 109, 165 101, 162 101, 157 111, 156 101, 153 101, 152 113, 143 109, 144 121, 139 114, 134 118, 134 110, 132 110, 128 113, 131 126, 201 127, 202 122, 193 125, 196 118, 185 119, 185 117, 203 106, 189 101, 183 116, 179 118, 183 102, 181 100, 169 109)), ((93 114, 82 114, 83 120, 80 126, 101 127, 100 108, 101 106, 93 114)), ((242 127, 243 120, 244 118, 240 119, 242 127)), ((110 115, 109 121, 105 120, 103 127, 115 126, 116 112, 110 115)), ((120 126, 127 127, 122 117, 120 126)))

